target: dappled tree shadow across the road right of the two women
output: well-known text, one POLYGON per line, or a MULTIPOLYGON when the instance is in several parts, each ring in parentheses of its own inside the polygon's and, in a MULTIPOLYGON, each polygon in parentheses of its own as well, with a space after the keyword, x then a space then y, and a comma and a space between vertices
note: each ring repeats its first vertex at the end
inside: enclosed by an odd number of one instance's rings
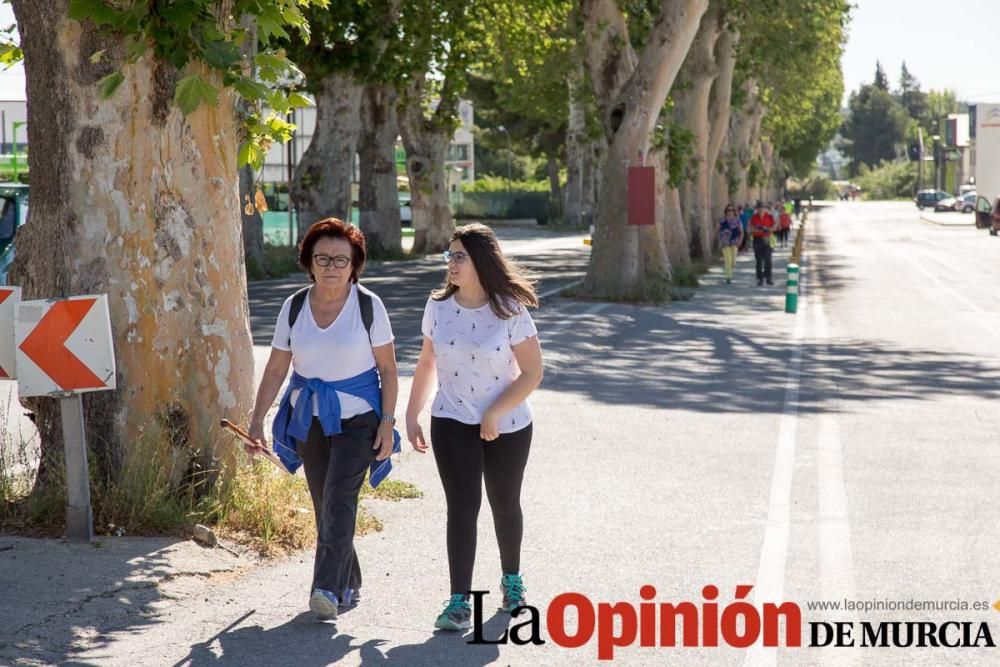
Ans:
MULTIPOLYGON (((990 360, 953 351, 904 348, 879 340, 795 344, 782 332, 740 331, 716 313, 615 306, 545 344, 561 355, 543 388, 611 405, 706 413, 783 410, 793 353, 801 350, 798 409, 823 412, 813 378, 832 378, 850 404, 942 396, 1000 398, 1000 370, 990 360)), ((540 330, 544 330, 539 327, 540 330)))

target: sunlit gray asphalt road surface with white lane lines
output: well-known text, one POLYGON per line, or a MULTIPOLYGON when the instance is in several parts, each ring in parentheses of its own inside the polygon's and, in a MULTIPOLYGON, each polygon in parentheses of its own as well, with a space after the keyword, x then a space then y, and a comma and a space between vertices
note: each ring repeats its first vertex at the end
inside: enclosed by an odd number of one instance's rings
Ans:
MULTIPOLYGON (((586 259, 578 239, 509 242, 543 268, 543 290, 577 277, 586 259)), ((385 529, 358 541, 365 598, 336 624, 305 612, 309 554, 240 570, 231 556, 192 555, 183 542, 109 540, 95 556, 89 547, 0 538, 0 549, 13 547, 0 551, 0 577, 16 584, 5 596, 13 604, 0 605, 0 661, 596 664, 596 640, 555 645, 546 608, 570 591, 638 608, 644 585, 655 587, 654 601, 690 601, 705 618, 704 586, 718 587, 723 615, 736 587, 752 585, 747 600, 758 606, 799 606, 804 643, 809 623, 837 621, 964 621, 974 624, 972 637, 985 621, 1000 641, 993 610, 809 607, 844 599, 960 607, 1000 597, 992 335, 1000 240, 923 223, 912 204, 837 204, 809 225, 794 315, 782 308, 786 257, 777 255, 772 288, 753 286, 752 258, 742 256, 733 285, 713 270, 690 301, 553 297, 536 313, 546 377, 532 397, 522 568, 544 645, 470 646, 432 633, 447 596, 444 499, 432 458, 407 451, 394 475, 424 497, 371 503, 385 529), (60 567, 58 586, 38 581, 38 572, 60 567)), ((440 280, 432 266, 373 267, 366 278, 389 307, 404 359, 440 280)), ((290 288, 254 286, 258 342, 269 340, 261 327, 290 288)), ((408 391, 404 377, 401 405, 408 391)), ((474 585, 495 603, 486 508, 478 553, 474 585)), ((491 607, 484 618, 490 637, 506 626, 491 607)), ((572 633, 575 614, 568 618, 572 633)), ((855 625, 852 638, 861 636, 855 625)), ((948 639, 956 638, 953 629, 948 639)), ((628 665, 996 663, 989 648, 637 641, 614 655, 628 665)))

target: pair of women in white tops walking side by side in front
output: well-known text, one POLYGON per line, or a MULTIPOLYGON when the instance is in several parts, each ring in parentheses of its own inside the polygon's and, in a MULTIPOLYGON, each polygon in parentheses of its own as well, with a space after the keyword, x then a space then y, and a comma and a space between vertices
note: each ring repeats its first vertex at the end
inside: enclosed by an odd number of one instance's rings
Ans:
MULTIPOLYGON (((291 367, 271 436, 290 472, 304 468, 312 496, 309 608, 321 619, 360 600, 358 494, 366 475, 372 486, 384 479, 400 442, 393 330, 382 300, 358 282, 365 256, 356 227, 327 218, 309 228, 298 259, 310 285, 281 307, 250 417, 252 440, 266 447, 264 419, 291 367)), ((534 281, 503 255, 489 227, 457 228, 444 260, 444 284, 424 307, 405 425, 416 452, 433 452, 447 504, 450 596, 434 625, 462 630, 471 627, 484 480, 500 549, 500 609, 526 604, 520 498, 531 448, 527 398, 542 380, 542 352, 527 310, 538 306, 534 281), (429 439, 419 422, 428 399, 429 439)))

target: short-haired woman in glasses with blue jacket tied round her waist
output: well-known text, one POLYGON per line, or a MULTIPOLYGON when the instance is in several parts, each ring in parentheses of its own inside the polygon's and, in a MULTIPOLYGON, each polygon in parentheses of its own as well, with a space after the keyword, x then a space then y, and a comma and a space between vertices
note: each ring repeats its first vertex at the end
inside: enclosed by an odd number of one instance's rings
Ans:
POLYGON ((291 366, 272 436, 291 472, 305 468, 317 531, 309 608, 321 619, 359 599, 358 493, 369 469, 373 484, 384 476, 399 443, 392 327, 382 301, 357 284, 365 255, 364 235, 336 218, 306 232, 299 264, 312 284, 281 308, 250 418, 251 438, 266 446, 264 417, 291 366))

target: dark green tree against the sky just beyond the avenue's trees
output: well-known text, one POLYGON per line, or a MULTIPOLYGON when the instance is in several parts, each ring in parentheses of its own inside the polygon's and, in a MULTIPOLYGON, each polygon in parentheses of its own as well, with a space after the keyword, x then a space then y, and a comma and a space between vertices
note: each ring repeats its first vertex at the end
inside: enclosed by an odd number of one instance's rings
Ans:
POLYGON ((906 109, 874 84, 852 93, 841 132, 842 150, 851 158, 851 174, 857 174, 861 165, 873 167, 895 159, 897 147, 906 139, 908 123, 906 109))

